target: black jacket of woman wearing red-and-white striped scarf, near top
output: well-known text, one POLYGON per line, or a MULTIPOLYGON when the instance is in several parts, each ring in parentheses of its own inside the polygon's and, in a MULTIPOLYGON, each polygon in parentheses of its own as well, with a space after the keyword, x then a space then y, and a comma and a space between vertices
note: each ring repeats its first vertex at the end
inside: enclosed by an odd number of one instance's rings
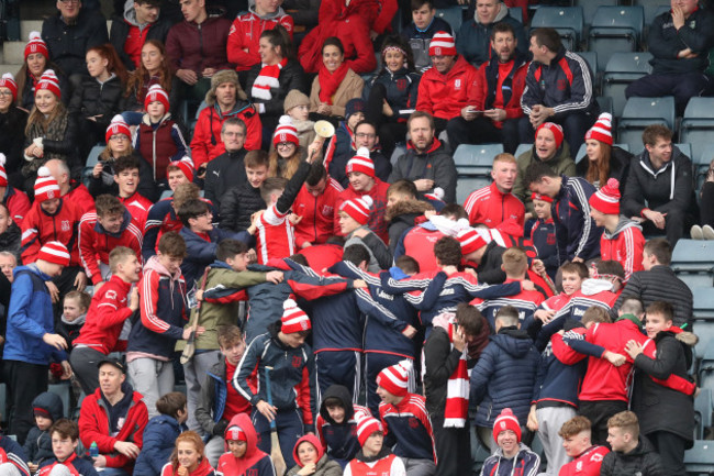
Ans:
POLYGON ((248 99, 256 104, 256 108, 258 108, 257 104, 265 104, 265 112, 260 113, 260 122, 265 128, 272 130, 278 125, 278 120, 283 114, 282 104, 288 92, 292 89, 298 89, 301 92, 309 93, 308 79, 300 63, 289 59, 286 66, 280 70, 280 76, 278 76, 278 82, 280 86, 277 88, 270 88, 271 98, 265 100, 257 98, 252 93, 253 84, 260 74, 260 67, 261 64, 258 63, 248 70, 245 92, 248 95, 248 99))

